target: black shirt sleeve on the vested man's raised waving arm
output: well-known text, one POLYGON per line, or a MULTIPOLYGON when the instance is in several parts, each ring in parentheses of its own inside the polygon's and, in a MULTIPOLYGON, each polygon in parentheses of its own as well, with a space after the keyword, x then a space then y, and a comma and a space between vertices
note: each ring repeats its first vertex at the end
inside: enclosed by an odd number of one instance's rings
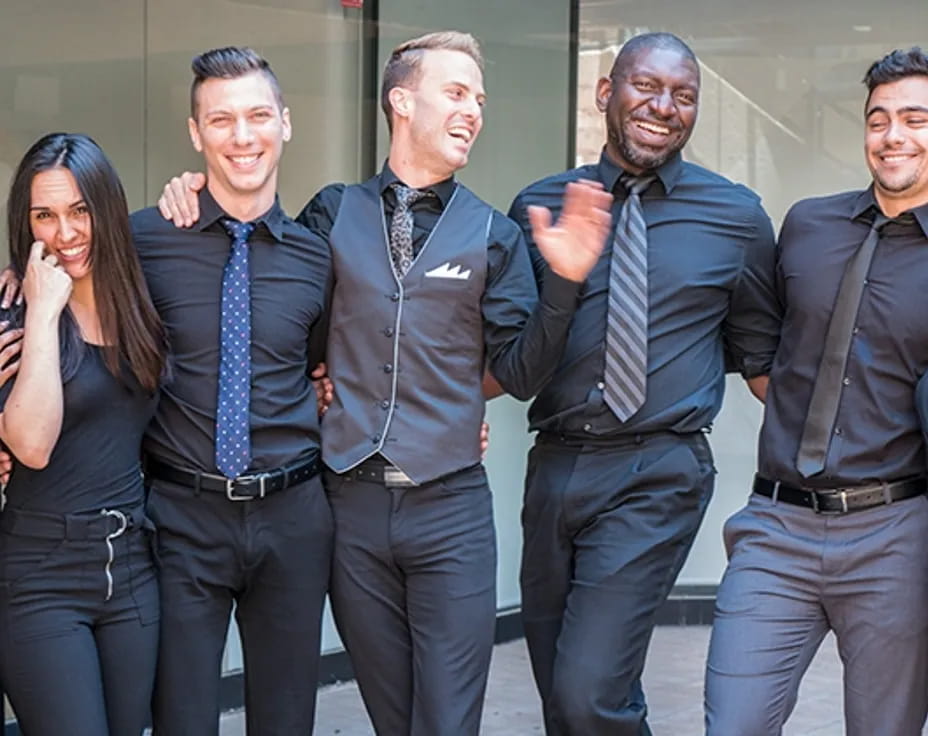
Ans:
POLYGON ((529 399, 560 362, 580 285, 550 271, 543 259, 533 265, 522 231, 499 212, 490 223, 487 258, 483 321, 488 367, 508 393, 529 399))

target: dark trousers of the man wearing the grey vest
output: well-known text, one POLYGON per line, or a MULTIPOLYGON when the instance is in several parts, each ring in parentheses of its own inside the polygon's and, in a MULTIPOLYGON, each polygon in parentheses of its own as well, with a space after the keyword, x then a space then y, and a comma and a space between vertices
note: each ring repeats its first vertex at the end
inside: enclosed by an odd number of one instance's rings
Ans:
POLYGON ((326 474, 332 608, 379 736, 476 736, 496 619, 483 466, 412 488, 326 474))

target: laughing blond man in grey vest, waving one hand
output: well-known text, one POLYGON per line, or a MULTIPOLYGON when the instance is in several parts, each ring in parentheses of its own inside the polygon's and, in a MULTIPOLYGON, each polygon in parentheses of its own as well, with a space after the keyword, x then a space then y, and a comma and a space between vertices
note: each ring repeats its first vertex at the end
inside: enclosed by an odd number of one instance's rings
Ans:
MULTIPOLYGON (((484 99, 472 36, 398 46, 382 87, 383 170, 326 187, 297 218, 332 250, 330 597, 380 736, 478 732, 496 615, 484 367, 517 397, 541 389, 609 229, 612 198, 588 182, 568 188, 554 226, 533 209, 548 264, 539 298, 519 228, 454 180, 484 99)), ((165 190, 175 222, 195 218, 192 186, 185 176, 165 190)))

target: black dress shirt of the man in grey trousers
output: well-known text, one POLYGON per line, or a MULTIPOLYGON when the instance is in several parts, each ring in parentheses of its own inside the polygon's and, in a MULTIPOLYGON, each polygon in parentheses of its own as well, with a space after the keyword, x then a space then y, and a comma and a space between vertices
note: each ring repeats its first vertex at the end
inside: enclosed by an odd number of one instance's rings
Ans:
POLYGON ((825 470, 796 454, 841 278, 878 211, 872 189, 795 204, 780 231, 785 306, 761 429, 762 475, 833 488, 924 475, 915 385, 928 369, 928 205, 881 231, 853 331, 825 470))

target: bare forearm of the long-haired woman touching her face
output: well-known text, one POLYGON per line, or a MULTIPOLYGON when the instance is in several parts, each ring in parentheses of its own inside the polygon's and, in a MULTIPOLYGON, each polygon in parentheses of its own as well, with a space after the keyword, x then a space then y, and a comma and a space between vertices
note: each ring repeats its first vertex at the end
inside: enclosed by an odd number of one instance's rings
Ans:
POLYGON ((0 439, 24 465, 48 463, 61 432, 63 403, 58 318, 27 312, 19 373, 0 415, 0 439))

